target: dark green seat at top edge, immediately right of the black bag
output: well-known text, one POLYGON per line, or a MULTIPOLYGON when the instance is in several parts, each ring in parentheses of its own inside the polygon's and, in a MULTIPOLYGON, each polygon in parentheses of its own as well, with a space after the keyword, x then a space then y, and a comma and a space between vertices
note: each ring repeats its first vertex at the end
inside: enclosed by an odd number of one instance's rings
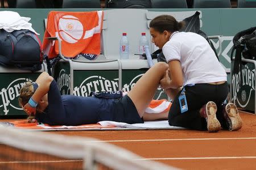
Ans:
POLYGON ((186 0, 151 0, 152 8, 188 8, 186 0))

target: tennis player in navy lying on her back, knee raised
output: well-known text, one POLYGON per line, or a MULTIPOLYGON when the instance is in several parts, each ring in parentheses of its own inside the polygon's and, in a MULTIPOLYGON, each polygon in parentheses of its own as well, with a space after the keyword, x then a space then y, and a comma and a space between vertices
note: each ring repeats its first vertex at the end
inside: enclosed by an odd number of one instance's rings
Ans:
POLYGON ((98 121, 135 124, 143 120, 167 119, 168 112, 144 113, 167 69, 166 63, 156 63, 138 80, 129 94, 112 99, 104 97, 108 94, 90 97, 60 95, 55 80, 43 72, 35 82, 27 82, 21 88, 19 104, 29 117, 35 117, 32 122, 49 125, 96 124, 98 121))

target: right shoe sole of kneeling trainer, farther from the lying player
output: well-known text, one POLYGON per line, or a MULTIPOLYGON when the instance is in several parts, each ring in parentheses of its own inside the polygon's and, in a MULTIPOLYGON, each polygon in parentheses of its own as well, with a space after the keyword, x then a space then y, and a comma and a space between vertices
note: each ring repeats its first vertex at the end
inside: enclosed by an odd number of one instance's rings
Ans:
POLYGON ((230 131, 242 128, 242 119, 239 116, 238 109, 234 103, 228 103, 225 105, 223 115, 230 131))

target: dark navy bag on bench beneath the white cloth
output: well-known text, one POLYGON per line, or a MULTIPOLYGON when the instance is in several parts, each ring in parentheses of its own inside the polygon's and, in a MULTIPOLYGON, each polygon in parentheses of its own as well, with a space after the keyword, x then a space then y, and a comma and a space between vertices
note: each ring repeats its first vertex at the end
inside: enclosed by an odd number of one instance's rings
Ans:
POLYGON ((43 52, 38 36, 27 29, 7 32, 0 29, 0 65, 21 70, 42 69, 43 52))

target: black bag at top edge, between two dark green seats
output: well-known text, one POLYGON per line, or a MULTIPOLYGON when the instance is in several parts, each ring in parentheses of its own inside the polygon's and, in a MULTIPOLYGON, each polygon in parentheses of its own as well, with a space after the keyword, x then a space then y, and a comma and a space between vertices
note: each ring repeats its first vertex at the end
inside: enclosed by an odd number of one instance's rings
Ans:
POLYGON ((151 8, 150 0, 106 0, 108 8, 151 8))

